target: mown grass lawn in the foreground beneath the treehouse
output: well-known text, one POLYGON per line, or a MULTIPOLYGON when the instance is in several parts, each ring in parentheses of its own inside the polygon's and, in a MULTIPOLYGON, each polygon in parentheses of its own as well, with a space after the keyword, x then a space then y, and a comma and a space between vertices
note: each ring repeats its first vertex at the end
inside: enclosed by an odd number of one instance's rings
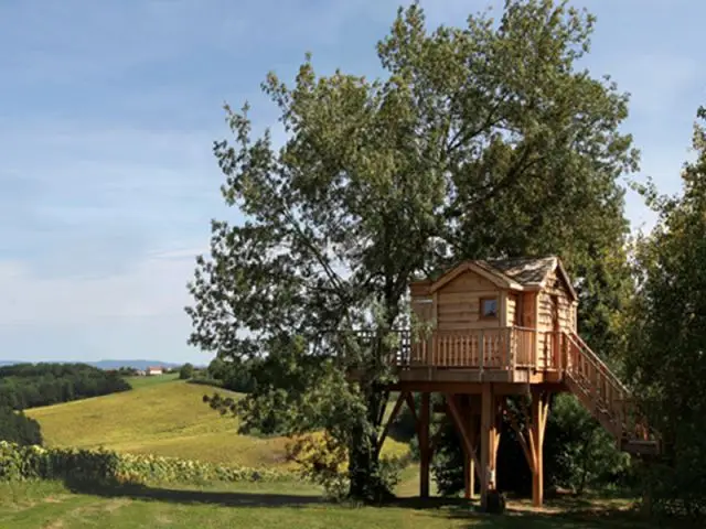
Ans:
POLYGON ((640 528, 623 504, 570 503, 533 511, 511 504, 503 516, 480 515, 461 501, 355 507, 321 500, 313 487, 235 484, 208 487, 135 487, 75 493, 60 483, 0 484, 0 528, 194 528, 297 529, 436 528, 640 528))

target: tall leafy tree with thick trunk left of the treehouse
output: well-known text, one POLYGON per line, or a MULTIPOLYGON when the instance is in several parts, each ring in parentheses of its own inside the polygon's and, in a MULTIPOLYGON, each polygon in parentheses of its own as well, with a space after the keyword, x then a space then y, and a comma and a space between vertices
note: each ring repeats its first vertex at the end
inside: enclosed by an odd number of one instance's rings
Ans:
POLYGON ((413 274, 561 252, 587 284, 606 276, 625 228, 616 179, 637 154, 618 130, 627 97, 576 68, 592 24, 566 2, 509 0, 500 21, 428 32, 413 4, 377 45, 384 78, 318 76, 310 57, 292 86, 267 77, 282 147, 253 137, 247 105, 226 108, 234 139, 214 152, 247 220, 213 223, 188 312, 192 344, 268 357, 246 427, 272 407, 292 433, 324 427, 350 449, 351 494, 378 495, 382 387, 413 274))

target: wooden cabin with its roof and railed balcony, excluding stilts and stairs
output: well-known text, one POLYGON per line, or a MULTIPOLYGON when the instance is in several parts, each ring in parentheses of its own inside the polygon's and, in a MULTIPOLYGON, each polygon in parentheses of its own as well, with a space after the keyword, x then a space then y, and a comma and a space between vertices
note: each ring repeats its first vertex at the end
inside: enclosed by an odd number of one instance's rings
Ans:
POLYGON ((467 261, 410 291, 418 322, 434 328, 413 342, 411 370, 445 368, 438 380, 558 380, 555 338, 576 333, 578 305, 558 258, 467 261))

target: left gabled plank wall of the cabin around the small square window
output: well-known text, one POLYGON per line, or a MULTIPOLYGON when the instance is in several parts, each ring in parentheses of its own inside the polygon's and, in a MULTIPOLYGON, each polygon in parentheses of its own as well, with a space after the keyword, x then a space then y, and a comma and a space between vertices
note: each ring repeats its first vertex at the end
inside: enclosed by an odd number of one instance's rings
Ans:
POLYGON ((500 327, 504 320, 501 289, 488 279, 466 271, 441 287, 436 294, 436 314, 439 331, 467 331, 500 327), (481 319, 481 298, 498 299, 498 317, 481 319))

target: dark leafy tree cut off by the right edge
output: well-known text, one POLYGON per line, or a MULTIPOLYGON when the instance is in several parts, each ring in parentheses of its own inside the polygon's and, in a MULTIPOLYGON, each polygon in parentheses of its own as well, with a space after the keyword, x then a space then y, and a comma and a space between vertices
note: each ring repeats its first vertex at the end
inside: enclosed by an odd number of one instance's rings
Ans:
MULTIPOLYGON (((702 108, 698 118, 706 120, 702 108)), ((630 317, 627 371, 642 412, 665 449, 648 469, 653 506, 706 518, 706 131, 694 129, 695 161, 682 172, 683 193, 642 187, 659 213, 635 245, 639 295, 630 317)))

